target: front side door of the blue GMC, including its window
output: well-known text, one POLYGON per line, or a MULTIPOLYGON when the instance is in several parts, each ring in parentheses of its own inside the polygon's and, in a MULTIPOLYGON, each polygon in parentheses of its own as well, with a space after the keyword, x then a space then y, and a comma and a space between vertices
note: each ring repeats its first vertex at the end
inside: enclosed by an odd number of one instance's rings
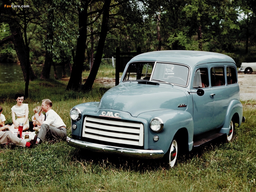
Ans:
POLYGON ((208 67, 196 68, 193 78, 193 120, 194 135, 214 129, 214 98, 210 88, 208 67), (198 89, 204 90, 204 95, 199 96, 195 92, 198 89))

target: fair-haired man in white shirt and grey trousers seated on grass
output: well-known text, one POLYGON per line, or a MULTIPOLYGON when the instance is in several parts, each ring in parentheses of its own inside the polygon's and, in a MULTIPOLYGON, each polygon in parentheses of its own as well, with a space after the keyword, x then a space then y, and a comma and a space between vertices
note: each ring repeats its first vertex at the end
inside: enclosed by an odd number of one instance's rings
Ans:
POLYGON ((54 137, 56 139, 59 138, 66 138, 67 137, 67 130, 66 125, 64 124, 63 120, 60 116, 52 110, 52 102, 49 99, 42 100, 41 105, 42 111, 46 112, 45 116, 46 119, 42 122, 39 119, 39 115, 36 113, 35 118, 38 124, 41 125, 40 131, 37 135, 37 144, 41 141, 44 142, 46 135, 54 137))

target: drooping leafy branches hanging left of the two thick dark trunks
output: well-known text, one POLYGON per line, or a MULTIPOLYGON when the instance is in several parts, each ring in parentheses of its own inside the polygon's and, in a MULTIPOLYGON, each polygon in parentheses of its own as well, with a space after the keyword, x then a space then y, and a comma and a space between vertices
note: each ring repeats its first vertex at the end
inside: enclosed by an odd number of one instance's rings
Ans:
MULTIPOLYGON (((74 12, 72 4, 79 6, 80 1, 51 0, 46 1, 44 5, 47 6, 46 12, 42 14, 42 18, 46 20, 46 37, 41 43, 42 47, 55 58, 60 56, 60 52, 64 52, 63 49, 74 47, 72 39, 77 37, 75 28, 77 24, 72 25, 70 20, 66 19, 74 12)), ((73 19, 77 18, 69 17, 69 19, 72 19, 73 23, 73 19)))

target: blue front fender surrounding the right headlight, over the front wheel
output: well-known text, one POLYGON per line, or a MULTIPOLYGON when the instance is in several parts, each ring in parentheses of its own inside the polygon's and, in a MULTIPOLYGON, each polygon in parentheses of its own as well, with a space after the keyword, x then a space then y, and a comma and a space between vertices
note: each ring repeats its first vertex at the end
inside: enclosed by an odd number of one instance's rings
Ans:
MULTIPOLYGON (((181 110, 160 110, 141 113, 138 118, 143 118, 148 121, 148 146, 152 150, 163 150, 166 153, 172 143, 172 140, 178 130, 185 128, 188 135, 188 140, 184 141, 188 144, 188 150, 192 150, 194 123, 191 114, 181 110), (150 121, 158 117, 164 123, 163 130, 159 133, 154 132, 150 128, 150 121), (154 141, 153 137, 157 135, 158 141, 154 141)), ((182 137, 182 135, 180 135, 182 137)), ((146 137, 146 135, 144 135, 146 137)))

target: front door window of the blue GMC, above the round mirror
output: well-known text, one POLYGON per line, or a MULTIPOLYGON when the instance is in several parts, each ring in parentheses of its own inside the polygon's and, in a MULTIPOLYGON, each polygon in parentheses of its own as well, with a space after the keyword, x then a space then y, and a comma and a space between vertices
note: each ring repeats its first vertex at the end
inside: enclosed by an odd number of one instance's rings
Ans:
POLYGON ((207 68, 199 68, 196 70, 193 88, 205 88, 209 87, 209 76, 207 68))

